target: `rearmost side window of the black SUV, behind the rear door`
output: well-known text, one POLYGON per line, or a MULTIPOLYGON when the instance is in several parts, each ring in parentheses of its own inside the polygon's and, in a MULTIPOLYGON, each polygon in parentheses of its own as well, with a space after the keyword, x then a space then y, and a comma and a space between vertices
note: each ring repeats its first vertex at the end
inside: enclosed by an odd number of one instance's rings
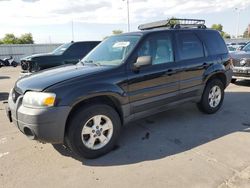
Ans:
POLYGON ((200 33, 209 55, 219 55, 228 53, 227 46, 216 31, 206 31, 200 33))

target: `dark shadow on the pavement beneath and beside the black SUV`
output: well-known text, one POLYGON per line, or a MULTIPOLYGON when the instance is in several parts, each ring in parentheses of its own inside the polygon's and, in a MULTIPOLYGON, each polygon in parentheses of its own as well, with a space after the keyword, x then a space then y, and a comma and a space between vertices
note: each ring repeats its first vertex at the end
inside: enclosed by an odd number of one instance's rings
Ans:
POLYGON ((250 101, 250 91, 227 92, 216 114, 203 114, 194 104, 186 104, 132 122, 123 128, 115 150, 98 159, 80 159, 61 146, 55 149, 87 166, 127 165, 173 156, 228 134, 250 132, 249 103, 245 101, 250 101))

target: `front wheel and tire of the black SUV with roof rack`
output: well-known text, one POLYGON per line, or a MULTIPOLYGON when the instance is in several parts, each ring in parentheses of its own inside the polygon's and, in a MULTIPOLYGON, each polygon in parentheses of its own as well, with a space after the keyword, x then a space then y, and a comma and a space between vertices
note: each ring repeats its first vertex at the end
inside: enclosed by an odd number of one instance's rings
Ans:
POLYGON ((110 106, 93 104, 71 118, 66 145, 78 156, 97 158, 111 151, 121 132, 121 120, 110 106))

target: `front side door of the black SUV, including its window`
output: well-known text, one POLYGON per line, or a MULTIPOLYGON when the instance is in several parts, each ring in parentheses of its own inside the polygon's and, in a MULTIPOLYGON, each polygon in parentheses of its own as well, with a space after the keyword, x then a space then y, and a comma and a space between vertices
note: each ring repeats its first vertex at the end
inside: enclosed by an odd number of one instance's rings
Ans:
POLYGON ((132 114, 157 110, 178 99, 179 73, 174 61, 172 34, 152 33, 134 54, 151 56, 152 65, 128 72, 128 90, 132 114))

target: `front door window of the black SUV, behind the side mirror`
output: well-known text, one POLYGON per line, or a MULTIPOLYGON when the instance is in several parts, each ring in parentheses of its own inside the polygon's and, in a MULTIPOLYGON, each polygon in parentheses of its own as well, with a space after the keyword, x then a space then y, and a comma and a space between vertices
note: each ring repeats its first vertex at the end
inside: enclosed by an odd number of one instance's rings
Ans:
POLYGON ((152 64, 173 62, 173 47, 170 34, 154 34, 144 40, 137 51, 137 57, 151 56, 152 64))

